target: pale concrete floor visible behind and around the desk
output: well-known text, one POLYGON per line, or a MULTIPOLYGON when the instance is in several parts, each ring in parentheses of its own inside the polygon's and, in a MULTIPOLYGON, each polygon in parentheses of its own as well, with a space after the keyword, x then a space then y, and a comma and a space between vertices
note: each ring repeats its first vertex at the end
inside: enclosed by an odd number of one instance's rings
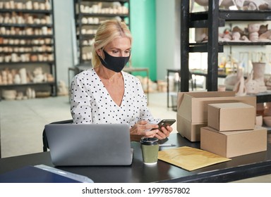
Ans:
MULTIPOLYGON (((176 112, 167 109, 166 93, 150 93, 149 108, 155 117, 176 119, 176 112)), ((42 152, 44 125, 68 119, 71 119, 68 96, 0 101, 1 157, 42 152)), ((176 124, 172 127, 176 132, 176 124)), ((271 174, 237 182, 271 183, 271 174)))

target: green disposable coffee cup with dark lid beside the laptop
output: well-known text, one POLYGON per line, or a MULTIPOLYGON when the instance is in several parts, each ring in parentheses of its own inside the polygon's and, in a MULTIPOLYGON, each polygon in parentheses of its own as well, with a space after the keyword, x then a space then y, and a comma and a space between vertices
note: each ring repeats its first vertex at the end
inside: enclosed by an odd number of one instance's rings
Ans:
POLYGON ((143 163, 155 165, 158 160, 159 144, 155 137, 143 137, 140 140, 143 163))

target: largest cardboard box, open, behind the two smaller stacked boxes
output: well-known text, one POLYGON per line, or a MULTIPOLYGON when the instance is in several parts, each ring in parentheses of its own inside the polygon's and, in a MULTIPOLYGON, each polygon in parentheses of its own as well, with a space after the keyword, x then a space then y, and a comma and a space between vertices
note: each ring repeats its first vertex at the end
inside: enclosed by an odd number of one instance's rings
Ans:
POLYGON ((235 96, 234 91, 179 92, 177 100, 177 131, 190 141, 200 141, 200 127, 207 126, 207 105, 242 102, 254 106, 255 96, 235 96), (186 125, 181 124, 185 122, 186 125), (190 126, 189 126, 190 125, 190 126))

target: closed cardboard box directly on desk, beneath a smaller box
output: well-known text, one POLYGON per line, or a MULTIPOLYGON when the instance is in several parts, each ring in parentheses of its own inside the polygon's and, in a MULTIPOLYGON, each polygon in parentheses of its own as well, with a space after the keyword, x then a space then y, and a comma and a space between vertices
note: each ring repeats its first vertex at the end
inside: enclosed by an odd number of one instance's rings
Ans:
POLYGON ((202 127, 200 148, 227 158, 266 151, 267 129, 255 126, 253 130, 217 132, 211 127, 202 127))

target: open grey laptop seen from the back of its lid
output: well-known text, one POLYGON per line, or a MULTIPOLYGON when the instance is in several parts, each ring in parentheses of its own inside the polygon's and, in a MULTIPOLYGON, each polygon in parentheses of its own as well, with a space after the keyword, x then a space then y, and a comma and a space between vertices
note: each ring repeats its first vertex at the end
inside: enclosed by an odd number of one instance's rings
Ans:
POLYGON ((125 124, 45 125, 52 163, 71 165, 131 165, 130 132, 125 124))

